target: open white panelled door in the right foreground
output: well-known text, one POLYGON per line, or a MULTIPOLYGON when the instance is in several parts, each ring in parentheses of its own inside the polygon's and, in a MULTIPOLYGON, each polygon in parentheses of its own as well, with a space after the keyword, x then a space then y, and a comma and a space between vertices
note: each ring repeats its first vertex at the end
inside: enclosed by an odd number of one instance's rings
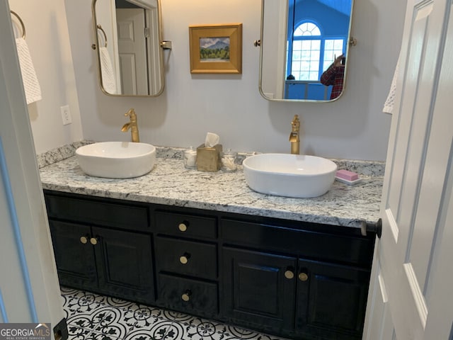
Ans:
POLYGON ((452 0, 409 0, 364 339, 452 339, 452 0))

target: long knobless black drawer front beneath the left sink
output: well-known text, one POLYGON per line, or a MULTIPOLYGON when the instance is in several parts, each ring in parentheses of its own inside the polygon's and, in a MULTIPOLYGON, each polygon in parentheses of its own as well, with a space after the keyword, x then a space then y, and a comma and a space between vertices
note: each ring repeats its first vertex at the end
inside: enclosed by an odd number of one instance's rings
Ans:
POLYGON ((149 228, 149 209, 144 205, 49 194, 45 195, 45 203, 47 215, 61 220, 127 229, 149 228))

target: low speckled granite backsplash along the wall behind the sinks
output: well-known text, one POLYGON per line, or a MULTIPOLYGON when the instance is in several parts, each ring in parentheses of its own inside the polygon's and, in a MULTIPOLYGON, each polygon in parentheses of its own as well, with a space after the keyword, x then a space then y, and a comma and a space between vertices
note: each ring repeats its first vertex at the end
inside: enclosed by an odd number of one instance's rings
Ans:
MULTIPOLYGON (((38 154, 38 167, 39 169, 54 164, 56 162, 62 161, 69 157, 75 155, 76 149, 78 147, 88 145, 93 143, 92 141, 84 140, 81 142, 74 142, 70 145, 64 145, 62 147, 57 147, 48 152, 38 154)), ((183 160, 183 152, 185 148, 180 147, 159 147, 156 146, 156 157, 164 159, 181 159, 183 160)), ((238 152, 238 157, 236 159, 237 164, 242 164, 242 161, 247 157, 252 156, 253 154, 258 154, 259 152, 238 152)), ((385 162, 377 161, 362 161, 355 159, 331 159, 338 166, 338 170, 346 169, 353 171, 357 174, 363 176, 384 176, 385 171, 385 162)))

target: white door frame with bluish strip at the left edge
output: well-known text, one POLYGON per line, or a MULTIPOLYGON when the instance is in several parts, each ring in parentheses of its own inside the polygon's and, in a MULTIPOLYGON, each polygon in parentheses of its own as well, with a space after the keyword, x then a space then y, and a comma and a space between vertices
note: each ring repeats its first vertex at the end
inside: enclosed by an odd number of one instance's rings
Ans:
POLYGON ((64 312, 8 1, 0 46, 0 322, 54 328, 64 312))

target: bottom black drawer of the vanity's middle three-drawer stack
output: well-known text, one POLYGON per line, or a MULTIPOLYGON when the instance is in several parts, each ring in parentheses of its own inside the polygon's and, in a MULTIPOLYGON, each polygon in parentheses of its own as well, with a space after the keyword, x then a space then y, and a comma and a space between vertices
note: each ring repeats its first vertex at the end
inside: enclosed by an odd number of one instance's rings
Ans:
POLYGON ((217 283, 159 274, 159 302, 169 309, 215 317, 219 311, 217 283))

